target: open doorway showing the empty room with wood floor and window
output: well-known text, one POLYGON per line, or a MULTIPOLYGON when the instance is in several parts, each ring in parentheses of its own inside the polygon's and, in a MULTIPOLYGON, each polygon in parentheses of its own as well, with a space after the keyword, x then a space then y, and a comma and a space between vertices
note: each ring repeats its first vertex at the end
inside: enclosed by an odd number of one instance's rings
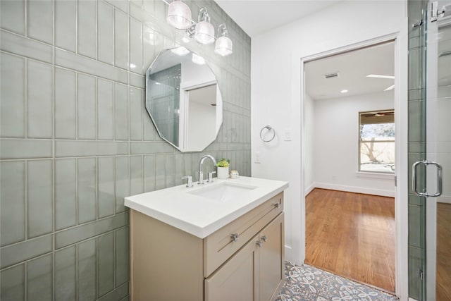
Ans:
POLYGON ((304 61, 305 263, 395 293, 395 41, 304 61))

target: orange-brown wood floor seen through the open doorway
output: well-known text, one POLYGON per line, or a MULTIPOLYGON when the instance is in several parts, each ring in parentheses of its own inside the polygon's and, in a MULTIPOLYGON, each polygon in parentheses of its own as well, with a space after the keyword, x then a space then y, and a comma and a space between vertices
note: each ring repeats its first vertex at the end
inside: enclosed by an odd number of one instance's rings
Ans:
POLYGON ((395 199, 314 189, 306 197, 305 262, 395 292, 395 199))

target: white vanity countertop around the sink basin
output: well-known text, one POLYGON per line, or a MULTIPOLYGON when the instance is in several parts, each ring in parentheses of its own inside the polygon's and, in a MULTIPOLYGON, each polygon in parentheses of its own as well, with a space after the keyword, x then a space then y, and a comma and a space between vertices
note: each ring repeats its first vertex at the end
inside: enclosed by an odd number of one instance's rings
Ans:
POLYGON ((288 182, 243 176, 226 180, 214 178, 214 183, 197 185, 193 182, 193 185, 193 188, 186 188, 184 184, 125 197, 125 206, 199 238, 206 238, 288 188, 288 182), (188 193, 225 182, 257 188, 226 202, 188 193))

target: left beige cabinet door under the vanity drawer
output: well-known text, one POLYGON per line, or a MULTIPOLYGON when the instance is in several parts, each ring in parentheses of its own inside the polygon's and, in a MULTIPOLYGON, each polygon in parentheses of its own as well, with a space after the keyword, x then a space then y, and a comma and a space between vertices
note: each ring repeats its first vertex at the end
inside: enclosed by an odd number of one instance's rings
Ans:
POLYGON ((226 264, 205 279, 204 300, 256 300, 254 279, 258 274, 257 263, 257 247, 252 239, 226 264))

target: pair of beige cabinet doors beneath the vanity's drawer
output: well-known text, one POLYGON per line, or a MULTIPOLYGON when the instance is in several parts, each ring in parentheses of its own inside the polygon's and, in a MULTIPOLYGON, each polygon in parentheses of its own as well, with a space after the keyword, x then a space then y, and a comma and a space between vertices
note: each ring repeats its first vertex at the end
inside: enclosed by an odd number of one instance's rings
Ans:
POLYGON ((274 300, 283 285, 283 213, 209 278, 206 301, 274 300))

